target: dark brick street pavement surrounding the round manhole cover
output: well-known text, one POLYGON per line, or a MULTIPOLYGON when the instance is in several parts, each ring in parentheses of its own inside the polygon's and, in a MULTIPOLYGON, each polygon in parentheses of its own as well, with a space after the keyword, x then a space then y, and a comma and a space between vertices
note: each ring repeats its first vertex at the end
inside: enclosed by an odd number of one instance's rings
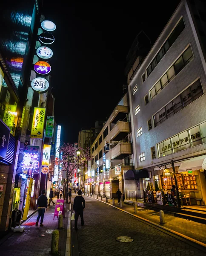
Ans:
MULTIPOLYGON (((74 198, 74 197, 73 197, 74 198)), ((85 226, 78 221, 77 239, 80 256, 206 256, 206 253, 127 215, 94 198, 84 197, 85 226), (130 236, 131 243, 120 243, 118 236, 130 236)), ((72 228, 74 223, 72 221, 72 228)))

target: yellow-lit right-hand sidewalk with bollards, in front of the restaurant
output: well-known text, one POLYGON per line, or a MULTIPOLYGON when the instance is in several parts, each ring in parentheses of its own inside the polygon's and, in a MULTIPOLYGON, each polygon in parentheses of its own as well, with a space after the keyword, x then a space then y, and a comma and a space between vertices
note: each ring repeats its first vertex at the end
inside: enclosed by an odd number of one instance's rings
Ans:
MULTIPOLYGON (((100 199, 100 197, 98 198, 100 199)), ((106 198, 103 198, 102 201, 106 202, 106 198)), ((112 199, 108 199, 108 203, 112 205, 112 199)), ((120 204, 117 203, 116 199, 115 199, 114 206, 117 208, 120 208, 120 204)), ((134 206, 130 204, 124 204, 124 203, 123 203, 123 207, 120 209, 130 212, 134 216, 140 216, 141 218, 152 221, 155 224, 160 224, 160 213, 159 213, 160 211, 158 210, 155 211, 152 209, 137 207, 138 211, 135 214, 134 206)), ((175 217, 172 214, 172 212, 167 212, 167 213, 165 212, 164 216, 165 216, 165 224, 161 224, 161 226, 206 244, 206 225, 205 224, 175 217)))

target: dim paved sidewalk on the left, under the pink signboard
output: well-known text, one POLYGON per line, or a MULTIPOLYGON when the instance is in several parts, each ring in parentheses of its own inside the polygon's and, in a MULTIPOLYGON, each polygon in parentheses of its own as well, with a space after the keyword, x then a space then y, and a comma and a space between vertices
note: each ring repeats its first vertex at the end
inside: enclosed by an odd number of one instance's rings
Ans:
MULTIPOLYGON (((53 199, 56 203, 57 199, 53 199)), ((52 205, 52 204, 51 204, 52 205)), ((56 204, 55 204, 56 205, 56 204)), ((69 207, 69 204, 66 204, 66 208, 69 207)), ((51 251, 51 242, 52 242, 52 233, 46 233, 46 230, 55 230, 58 229, 58 219, 55 216, 54 218, 54 209, 55 206, 50 206, 47 208, 47 211, 44 215, 43 227, 25 226, 23 233, 14 233, 11 232, 11 236, 6 239, 0 245, 0 256, 48 256, 51 251), (54 220, 53 220, 54 218, 54 220), (40 237, 43 234, 45 236, 40 237)), ((31 216, 27 221, 23 222, 36 222, 38 212, 31 216)), ((67 221, 68 221, 68 212, 66 209, 66 214, 63 219, 63 230, 59 230, 60 239, 59 239, 59 255, 65 256, 65 247, 66 247, 66 232, 67 232, 67 221)), ((22 224, 22 225, 23 225, 22 224)), ((39 222, 40 224, 40 222, 39 222)), ((3 240, 3 239, 2 239, 3 240)))

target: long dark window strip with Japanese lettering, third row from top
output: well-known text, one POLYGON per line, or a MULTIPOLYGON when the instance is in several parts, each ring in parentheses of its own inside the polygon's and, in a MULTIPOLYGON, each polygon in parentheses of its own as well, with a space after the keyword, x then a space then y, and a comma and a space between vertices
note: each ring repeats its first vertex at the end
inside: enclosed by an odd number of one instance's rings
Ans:
POLYGON ((198 99, 203 95, 203 88, 200 79, 197 79, 190 87, 184 90, 175 99, 169 102, 164 108, 156 113, 154 118, 154 127, 173 116, 175 113, 180 111, 182 108, 189 105, 191 102, 198 99))

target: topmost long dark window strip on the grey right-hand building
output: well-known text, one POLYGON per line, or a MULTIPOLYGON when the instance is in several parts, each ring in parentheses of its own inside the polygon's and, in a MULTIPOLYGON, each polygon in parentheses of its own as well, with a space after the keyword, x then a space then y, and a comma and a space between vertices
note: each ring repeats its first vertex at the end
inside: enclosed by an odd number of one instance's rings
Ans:
POLYGON ((163 58, 163 56, 166 54, 166 52, 169 50, 169 48, 174 44, 178 36, 181 34, 183 29, 185 28, 185 24, 183 21, 183 18, 179 21, 175 29, 172 31, 172 33, 169 35, 169 38, 164 43, 163 47, 160 49, 160 51, 157 53, 157 55, 154 57, 153 61, 147 68, 147 76, 149 76, 154 68, 157 66, 157 64, 160 62, 160 60, 163 58))

